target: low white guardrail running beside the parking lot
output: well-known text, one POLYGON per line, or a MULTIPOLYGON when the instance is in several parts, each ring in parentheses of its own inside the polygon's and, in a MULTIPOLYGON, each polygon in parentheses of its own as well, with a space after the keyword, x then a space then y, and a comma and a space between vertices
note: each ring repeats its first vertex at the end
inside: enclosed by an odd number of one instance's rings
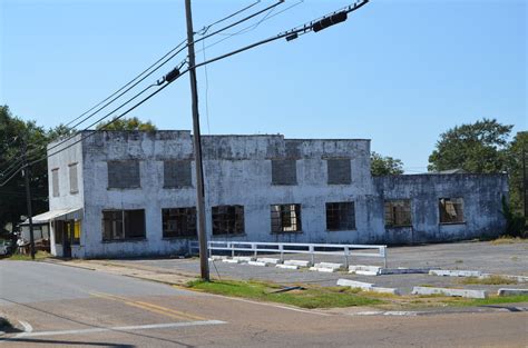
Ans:
MULTIPOLYGON (((189 253, 195 253, 194 250, 197 249, 199 249, 198 242, 189 241, 189 253)), ((273 252, 281 255, 281 261, 284 261, 284 253, 309 253, 311 256, 312 265, 315 262, 315 255, 342 256, 346 268, 349 267, 350 257, 373 257, 382 258, 383 267, 387 268, 387 246, 211 240, 207 242, 207 250, 209 257, 213 255, 214 250, 231 251, 232 257, 235 256, 236 251, 247 252, 253 253, 255 258, 258 252, 273 252), (375 249, 378 252, 354 251, 358 249, 375 249)))

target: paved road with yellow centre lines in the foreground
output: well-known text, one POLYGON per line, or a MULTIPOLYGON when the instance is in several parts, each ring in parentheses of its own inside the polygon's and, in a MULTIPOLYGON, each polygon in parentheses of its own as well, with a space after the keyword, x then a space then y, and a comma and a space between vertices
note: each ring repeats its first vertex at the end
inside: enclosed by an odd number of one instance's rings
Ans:
POLYGON ((0 261, 3 347, 526 347, 528 312, 352 316, 59 265, 0 261), (9 337, 8 337, 9 336, 9 337))

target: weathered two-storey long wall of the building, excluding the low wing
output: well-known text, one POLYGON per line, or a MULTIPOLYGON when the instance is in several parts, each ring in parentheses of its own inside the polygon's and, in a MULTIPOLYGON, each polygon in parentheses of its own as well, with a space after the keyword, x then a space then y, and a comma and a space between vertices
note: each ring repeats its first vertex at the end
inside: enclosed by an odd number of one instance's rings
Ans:
MULTIPOLYGON (((364 242, 372 231, 366 219, 370 177, 369 140, 285 140, 282 136, 204 137, 207 233, 212 238, 211 207, 242 205, 245 233, 214 239, 305 242, 364 242), (272 159, 297 159, 297 185, 272 185, 272 159), (350 158, 352 183, 327 185, 326 159, 350 158), (355 201, 356 230, 325 230, 326 201, 355 201), (271 233, 270 206, 302 203, 302 232, 271 233)), ((193 207, 194 187, 167 189, 164 160, 192 159, 188 131, 100 132, 84 141, 86 257, 159 253, 186 250, 187 239, 162 237, 162 208, 193 207), (138 159, 138 189, 107 189, 108 160, 138 159), (102 242, 101 210, 145 209, 147 231, 141 241, 102 242)), ((194 177, 193 161, 193 182, 194 177)))

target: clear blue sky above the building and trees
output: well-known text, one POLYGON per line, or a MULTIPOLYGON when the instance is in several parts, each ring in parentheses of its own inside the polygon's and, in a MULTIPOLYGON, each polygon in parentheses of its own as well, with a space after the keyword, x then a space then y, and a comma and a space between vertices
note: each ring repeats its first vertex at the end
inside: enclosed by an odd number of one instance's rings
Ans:
MULTIPOLYGON (((197 61, 352 1, 286 0, 197 43, 197 61)), ((253 2, 193 0, 195 31, 253 2)), ((405 172, 423 172, 439 136, 457 125, 495 118, 514 132, 528 128, 527 11, 524 0, 371 0, 343 23, 201 68, 202 132, 372 139, 405 172)), ((67 123, 184 39, 184 0, 0 0, 0 105, 47 128, 67 123)), ((128 116, 192 129, 188 76, 128 116)))

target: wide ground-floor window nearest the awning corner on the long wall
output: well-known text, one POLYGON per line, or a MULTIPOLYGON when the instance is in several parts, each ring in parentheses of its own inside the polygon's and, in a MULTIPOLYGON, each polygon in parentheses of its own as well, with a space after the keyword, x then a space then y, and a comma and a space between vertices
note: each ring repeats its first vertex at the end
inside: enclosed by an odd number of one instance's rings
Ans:
POLYGON ((145 238, 145 210, 102 210, 102 240, 145 238))

